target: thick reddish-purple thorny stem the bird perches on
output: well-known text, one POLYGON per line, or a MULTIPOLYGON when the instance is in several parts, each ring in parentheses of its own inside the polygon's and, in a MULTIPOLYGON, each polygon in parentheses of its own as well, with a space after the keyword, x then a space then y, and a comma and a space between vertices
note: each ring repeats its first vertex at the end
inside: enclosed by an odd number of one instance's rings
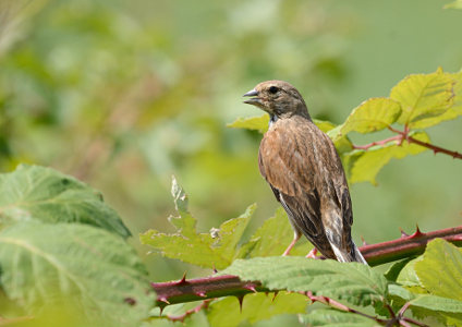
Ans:
MULTIPOLYGON (((423 233, 416 230, 412 235, 402 232, 401 238, 384 243, 363 245, 361 253, 370 266, 390 263, 424 253, 426 244, 436 238, 445 239, 457 246, 462 246, 462 226, 423 233)), ((157 305, 200 301, 220 296, 234 295, 242 298, 251 292, 268 292, 259 282, 241 281, 239 277, 211 276, 186 280, 185 276, 178 281, 151 282, 157 293, 157 305)))

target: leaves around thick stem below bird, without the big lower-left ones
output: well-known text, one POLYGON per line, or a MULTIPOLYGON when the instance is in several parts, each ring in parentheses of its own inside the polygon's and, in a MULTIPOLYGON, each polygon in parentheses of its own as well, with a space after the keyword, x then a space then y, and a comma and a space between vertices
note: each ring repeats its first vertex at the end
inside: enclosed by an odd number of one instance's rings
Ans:
POLYGON ((162 256, 219 268, 219 275, 258 281, 269 291, 279 292, 276 300, 263 293, 245 295, 242 307, 232 296, 212 301, 206 315, 210 326, 254 324, 280 314, 301 314, 300 320, 313 326, 377 326, 380 319, 390 318, 386 307, 398 313, 403 305, 409 306, 414 317, 459 324, 462 302, 454 291, 462 293, 459 292, 461 251, 442 240, 429 243, 422 257, 399 262, 384 275, 357 263, 342 264, 296 256, 307 252, 306 244, 294 247, 292 254, 295 256, 281 256, 293 237, 282 208, 246 241, 244 230, 255 205, 209 233, 200 233, 196 230, 196 219, 189 211, 187 195, 174 178, 172 196, 179 216, 170 217, 170 222, 177 231, 165 234, 149 230, 141 235, 144 244, 162 256), (439 272, 442 267, 447 269, 443 274, 439 272), (336 306, 306 308, 304 292, 326 296, 350 307, 374 307, 378 320, 333 310, 336 306))

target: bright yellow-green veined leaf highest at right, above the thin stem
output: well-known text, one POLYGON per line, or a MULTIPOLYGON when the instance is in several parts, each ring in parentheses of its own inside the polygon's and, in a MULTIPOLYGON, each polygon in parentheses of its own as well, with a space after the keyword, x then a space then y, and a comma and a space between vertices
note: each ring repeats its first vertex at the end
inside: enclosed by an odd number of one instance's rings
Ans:
POLYGON ((454 84, 441 70, 406 76, 390 93, 390 98, 401 105, 398 122, 413 129, 420 120, 445 113, 454 101, 454 84))

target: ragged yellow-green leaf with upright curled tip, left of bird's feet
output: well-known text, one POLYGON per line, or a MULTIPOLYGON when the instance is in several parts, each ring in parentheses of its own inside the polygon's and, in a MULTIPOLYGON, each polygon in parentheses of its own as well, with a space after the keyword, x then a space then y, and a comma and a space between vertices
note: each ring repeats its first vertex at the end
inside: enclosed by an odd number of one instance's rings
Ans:
MULTIPOLYGON (((171 216, 169 221, 177 231, 166 234, 150 229, 139 237, 143 244, 154 247, 162 256, 200 267, 224 269, 236 258, 280 255, 293 238, 285 213, 279 209, 245 242, 243 234, 256 209, 255 204, 240 217, 227 220, 209 232, 198 232, 197 220, 187 208, 187 195, 174 177, 172 196, 178 217, 171 216)), ((293 253, 301 253, 301 245, 293 253)), ((306 249, 304 251, 307 252, 309 249, 306 249)))

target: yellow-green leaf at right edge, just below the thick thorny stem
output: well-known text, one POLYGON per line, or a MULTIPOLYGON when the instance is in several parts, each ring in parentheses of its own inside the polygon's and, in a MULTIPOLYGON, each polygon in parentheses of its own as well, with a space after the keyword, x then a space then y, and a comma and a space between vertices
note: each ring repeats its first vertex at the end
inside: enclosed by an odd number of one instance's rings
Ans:
POLYGON ((422 286, 431 294, 462 301, 462 250, 436 239, 415 263, 422 286))

